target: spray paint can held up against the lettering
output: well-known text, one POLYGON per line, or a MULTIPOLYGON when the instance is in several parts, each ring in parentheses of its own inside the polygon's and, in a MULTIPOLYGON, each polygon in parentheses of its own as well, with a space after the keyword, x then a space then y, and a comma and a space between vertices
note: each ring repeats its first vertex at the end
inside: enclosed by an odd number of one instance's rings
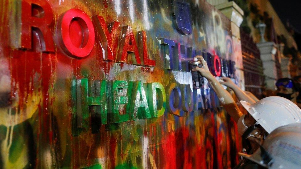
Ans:
POLYGON ((200 72, 192 71, 192 69, 195 68, 195 67, 200 67, 201 68, 202 66, 203 66, 202 62, 197 58, 194 58, 192 61, 190 61, 190 70, 191 70, 191 75, 192 75, 192 82, 193 82, 193 86, 197 89, 203 86, 204 77, 200 74, 200 72))

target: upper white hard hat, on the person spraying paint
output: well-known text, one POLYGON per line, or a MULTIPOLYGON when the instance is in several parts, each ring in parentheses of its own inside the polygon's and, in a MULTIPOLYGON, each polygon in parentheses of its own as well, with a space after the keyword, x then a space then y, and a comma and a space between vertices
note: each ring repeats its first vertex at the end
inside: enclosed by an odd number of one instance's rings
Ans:
POLYGON ((283 97, 270 96, 254 104, 245 101, 240 102, 269 134, 280 126, 301 123, 301 109, 295 103, 283 97))

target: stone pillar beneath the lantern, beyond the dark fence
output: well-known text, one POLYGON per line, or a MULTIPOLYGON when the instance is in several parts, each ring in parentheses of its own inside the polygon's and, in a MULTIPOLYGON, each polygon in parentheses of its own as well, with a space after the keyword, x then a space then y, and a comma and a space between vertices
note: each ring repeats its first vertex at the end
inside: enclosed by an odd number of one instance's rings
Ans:
POLYGON ((275 90, 277 78, 275 54, 277 46, 274 42, 257 43, 260 51, 260 58, 263 64, 263 74, 265 75, 266 89, 275 90))

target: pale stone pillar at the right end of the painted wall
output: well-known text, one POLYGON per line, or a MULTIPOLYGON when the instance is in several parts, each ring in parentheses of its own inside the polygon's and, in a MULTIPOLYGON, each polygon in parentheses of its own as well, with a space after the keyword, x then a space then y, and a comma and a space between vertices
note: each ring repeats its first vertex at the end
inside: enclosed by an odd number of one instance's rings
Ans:
POLYGON ((224 2, 214 6, 216 9, 220 10, 227 18, 231 20, 231 32, 232 32, 232 42, 234 58, 236 66, 236 77, 238 79, 238 85, 242 90, 245 90, 245 78, 242 65, 242 54, 241 54, 241 40, 240 40, 240 29, 239 26, 243 21, 242 16, 244 11, 234 2, 224 2))

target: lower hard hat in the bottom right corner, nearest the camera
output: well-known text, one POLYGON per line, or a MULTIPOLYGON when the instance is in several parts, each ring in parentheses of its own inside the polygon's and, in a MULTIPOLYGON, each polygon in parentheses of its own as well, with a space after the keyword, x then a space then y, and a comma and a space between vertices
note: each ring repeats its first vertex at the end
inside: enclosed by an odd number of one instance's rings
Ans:
POLYGON ((301 168, 300 139, 301 124, 289 124, 271 132, 254 154, 238 154, 271 169, 301 168))

